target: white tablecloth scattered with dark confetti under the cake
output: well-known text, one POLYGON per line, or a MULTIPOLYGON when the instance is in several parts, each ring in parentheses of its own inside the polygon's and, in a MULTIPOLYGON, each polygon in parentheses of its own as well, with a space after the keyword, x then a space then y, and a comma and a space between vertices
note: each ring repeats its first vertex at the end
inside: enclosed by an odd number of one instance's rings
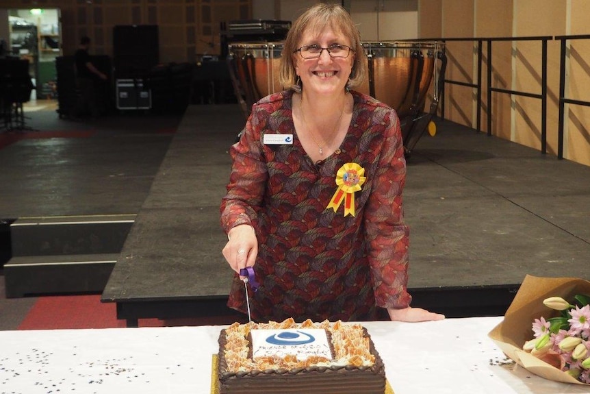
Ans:
MULTIPOLYGON (((590 392, 506 365, 487 337, 501 319, 363 325, 396 394, 590 392)), ((208 394, 221 328, 3 331, 0 393, 208 394)))

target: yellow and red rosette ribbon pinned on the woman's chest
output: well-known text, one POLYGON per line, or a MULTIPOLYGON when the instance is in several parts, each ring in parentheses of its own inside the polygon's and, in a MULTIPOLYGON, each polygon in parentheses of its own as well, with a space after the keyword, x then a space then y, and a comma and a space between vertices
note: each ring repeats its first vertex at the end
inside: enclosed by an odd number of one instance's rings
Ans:
POLYGON ((361 186, 367 179, 364 177, 365 169, 357 163, 346 163, 336 173, 336 192, 326 209, 332 208, 336 212, 344 201, 344 216, 355 216, 355 192, 361 190, 361 186))

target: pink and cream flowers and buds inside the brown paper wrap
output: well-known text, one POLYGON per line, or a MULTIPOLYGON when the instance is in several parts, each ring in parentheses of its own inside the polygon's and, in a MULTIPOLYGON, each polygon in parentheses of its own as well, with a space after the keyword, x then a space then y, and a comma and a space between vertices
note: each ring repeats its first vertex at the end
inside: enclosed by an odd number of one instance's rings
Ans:
POLYGON ((534 338, 522 348, 572 378, 590 384, 590 297, 578 294, 574 300, 575 305, 563 297, 543 300, 545 306, 559 310, 561 315, 535 319, 534 338))

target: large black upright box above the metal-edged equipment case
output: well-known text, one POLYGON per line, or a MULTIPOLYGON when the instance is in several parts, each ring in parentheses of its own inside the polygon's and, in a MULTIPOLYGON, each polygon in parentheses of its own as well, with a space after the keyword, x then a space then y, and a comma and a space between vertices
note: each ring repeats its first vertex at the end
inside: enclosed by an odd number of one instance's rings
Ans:
POLYGON ((116 78, 144 77, 158 62, 157 25, 113 27, 113 64, 116 78))

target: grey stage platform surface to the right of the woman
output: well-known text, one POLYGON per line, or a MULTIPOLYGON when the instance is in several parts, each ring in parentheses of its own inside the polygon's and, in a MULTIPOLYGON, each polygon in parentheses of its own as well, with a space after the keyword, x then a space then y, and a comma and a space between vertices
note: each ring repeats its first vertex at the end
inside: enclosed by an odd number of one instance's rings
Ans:
POLYGON ((440 123, 407 176, 411 287, 589 278, 590 167, 440 123))

